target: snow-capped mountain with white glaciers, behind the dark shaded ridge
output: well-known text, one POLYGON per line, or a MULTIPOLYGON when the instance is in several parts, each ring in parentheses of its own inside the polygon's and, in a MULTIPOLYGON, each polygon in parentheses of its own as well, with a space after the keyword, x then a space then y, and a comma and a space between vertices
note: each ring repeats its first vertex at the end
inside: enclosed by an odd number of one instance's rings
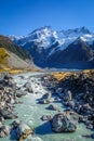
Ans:
POLYGON ((94 34, 85 27, 56 31, 50 26, 44 26, 27 36, 9 37, 16 44, 28 50, 38 65, 46 64, 49 59, 51 61, 52 56, 67 50, 72 42, 76 43, 78 38, 91 47, 92 50, 94 49, 94 34))

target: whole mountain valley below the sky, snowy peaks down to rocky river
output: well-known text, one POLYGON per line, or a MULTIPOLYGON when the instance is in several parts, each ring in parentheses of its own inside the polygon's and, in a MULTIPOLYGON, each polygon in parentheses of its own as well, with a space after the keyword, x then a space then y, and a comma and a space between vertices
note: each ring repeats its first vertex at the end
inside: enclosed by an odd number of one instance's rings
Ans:
POLYGON ((85 27, 1 35, 0 140, 93 141, 93 68, 85 27))

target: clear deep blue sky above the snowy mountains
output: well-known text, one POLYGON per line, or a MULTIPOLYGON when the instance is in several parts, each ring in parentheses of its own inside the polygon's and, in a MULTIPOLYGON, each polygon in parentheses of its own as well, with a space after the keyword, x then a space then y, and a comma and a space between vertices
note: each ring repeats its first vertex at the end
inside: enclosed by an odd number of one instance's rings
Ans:
POLYGON ((94 31, 94 0, 0 0, 0 34, 27 35, 42 26, 94 31))

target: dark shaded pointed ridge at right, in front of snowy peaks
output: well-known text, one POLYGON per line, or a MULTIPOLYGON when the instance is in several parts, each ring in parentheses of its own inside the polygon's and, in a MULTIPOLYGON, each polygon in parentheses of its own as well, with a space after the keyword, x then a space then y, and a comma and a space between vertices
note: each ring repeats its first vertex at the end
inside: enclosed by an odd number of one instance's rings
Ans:
POLYGON ((68 46, 64 51, 58 51, 51 55, 46 64, 49 66, 65 66, 73 68, 92 67, 94 61, 94 53, 90 46, 88 46, 81 39, 77 39, 75 42, 68 46))

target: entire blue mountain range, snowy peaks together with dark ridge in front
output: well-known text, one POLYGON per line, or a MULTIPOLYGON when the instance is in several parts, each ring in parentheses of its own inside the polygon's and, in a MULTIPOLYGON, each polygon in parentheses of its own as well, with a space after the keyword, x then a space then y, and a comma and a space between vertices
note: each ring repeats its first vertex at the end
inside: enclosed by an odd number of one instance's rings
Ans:
POLYGON ((94 64, 94 34, 85 27, 55 31, 45 26, 10 39, 41 67, 92 68, 94 64))

